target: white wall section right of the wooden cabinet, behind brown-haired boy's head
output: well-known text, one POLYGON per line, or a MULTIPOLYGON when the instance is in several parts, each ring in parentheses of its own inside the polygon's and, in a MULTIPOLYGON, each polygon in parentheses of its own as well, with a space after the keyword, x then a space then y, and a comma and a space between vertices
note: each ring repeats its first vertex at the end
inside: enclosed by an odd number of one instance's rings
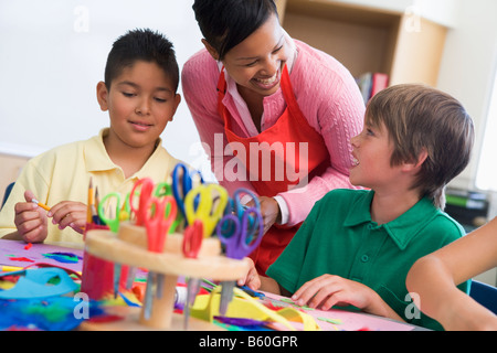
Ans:
POLYGON ((456 25, 447 34, 437 86, 459 99, 474 119, 472 162, 452 183, 473 189, 497 68, 497 1, 453 1, 458 3, 456 25))

